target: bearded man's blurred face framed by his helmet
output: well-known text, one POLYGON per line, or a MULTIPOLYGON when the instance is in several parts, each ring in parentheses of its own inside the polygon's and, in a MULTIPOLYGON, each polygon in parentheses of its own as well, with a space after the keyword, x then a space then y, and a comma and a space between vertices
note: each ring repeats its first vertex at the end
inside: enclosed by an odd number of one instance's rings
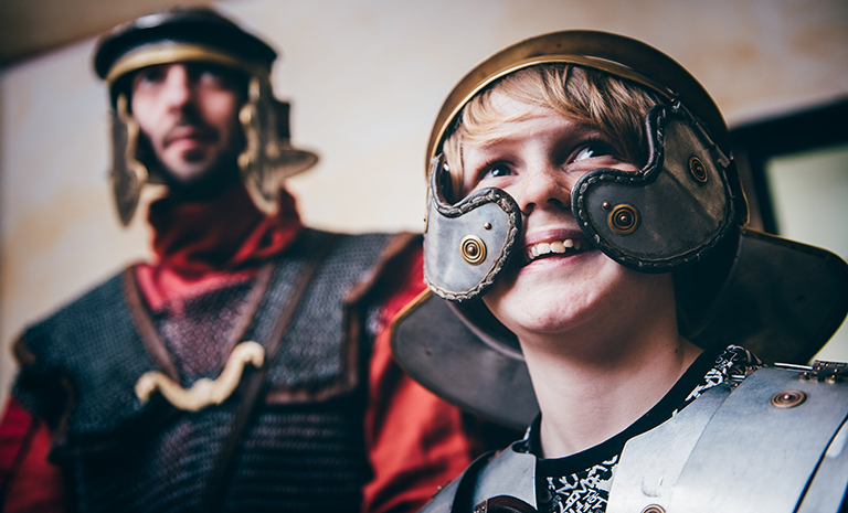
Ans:
POLYGON ((235 73, 213 64, 160 64, 136 73, 132 117, 171 186, 209 186, 235 175, 243 98, 235 73))

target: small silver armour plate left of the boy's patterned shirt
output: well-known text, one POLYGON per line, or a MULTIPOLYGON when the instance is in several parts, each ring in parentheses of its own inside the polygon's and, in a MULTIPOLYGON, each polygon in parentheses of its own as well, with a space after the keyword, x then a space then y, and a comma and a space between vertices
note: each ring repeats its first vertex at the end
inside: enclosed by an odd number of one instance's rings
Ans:
POLYGON ((478 458, 436 493, 421 513, 487 511, 486 502, 500 496, 518 499, 536 507, 536 457, 518 452, 516 443, 498 455, 489 452, 478 458))

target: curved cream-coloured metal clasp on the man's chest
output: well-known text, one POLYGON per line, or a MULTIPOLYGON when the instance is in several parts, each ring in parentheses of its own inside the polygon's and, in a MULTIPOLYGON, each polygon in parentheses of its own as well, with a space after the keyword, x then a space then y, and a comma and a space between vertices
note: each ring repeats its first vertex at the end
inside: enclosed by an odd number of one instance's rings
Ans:
POLYGON ((136 382, 136 396, 141 404, 150 400, 150 395, 159 391, 174 407, 184 412, 198 412, 206 406, 220 405, 239 386, 244 366, 248 363, 261 367, 265 362, 265 349, 256 342, 242 342, 230 353, 224 370, 216 380, 202 377, 186 389, 159 371, 146 372, 136 382))

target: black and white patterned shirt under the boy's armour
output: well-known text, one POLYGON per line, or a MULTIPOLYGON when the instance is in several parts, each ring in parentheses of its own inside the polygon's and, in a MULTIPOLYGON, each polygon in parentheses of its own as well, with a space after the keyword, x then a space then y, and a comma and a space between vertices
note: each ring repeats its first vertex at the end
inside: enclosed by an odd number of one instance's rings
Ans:
MULTIPOLYGON (((704 351, 659 403, 618 435, 564 458, 539 458, 536 483, 539 511, 603 513, 618 457, 630 438, 668 420, 704 391, 725 382, 735 386, 761 366, 760 359, 738 345, 704 351)), ((541 453, 540 423, 541 417, 537 417, 518 445, 519 450, 537 457, 541 453)))

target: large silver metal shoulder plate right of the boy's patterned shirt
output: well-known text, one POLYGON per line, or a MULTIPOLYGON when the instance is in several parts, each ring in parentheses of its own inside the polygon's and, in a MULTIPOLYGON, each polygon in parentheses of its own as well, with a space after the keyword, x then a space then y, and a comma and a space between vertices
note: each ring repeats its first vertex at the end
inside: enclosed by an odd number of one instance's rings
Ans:
POLYGON ((848 383, 810 373, 766 367, 732 393, 716 386, 627 442, 606 511, 836 512, 847 416, 848 383))

